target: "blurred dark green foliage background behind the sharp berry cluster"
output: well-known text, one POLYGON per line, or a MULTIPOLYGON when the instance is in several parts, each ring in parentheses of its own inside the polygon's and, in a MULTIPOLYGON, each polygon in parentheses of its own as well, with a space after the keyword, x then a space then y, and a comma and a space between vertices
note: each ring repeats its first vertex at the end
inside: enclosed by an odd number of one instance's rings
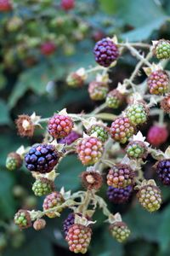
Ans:
MULTIPOLYGON (((20 138, 14 125, 18 114, 34 111, 42 117, 67 108, 70 113, 88 112, 95 108, 86 86, 71 90, 65 84, 68 73, 80 67, 94 66, 95 41, 117 35, 119 40, 150 42, 170 37, 170 1, 166 0, 77 0, 69 12, 59 8, 58 0, 14 1, 14 10, 0 13, 0 255, 58 256, 72 255, 62 236, 62 222, 48 220, 45 230, 15 230, 14 212, 20 207, 41 208, 31 191, 30 173, 23 168, 8 172, 7 154, 21 144, 41 142, 42 131, 31 139, 20 138), (52 55, 43 55, 41 45, 56 45, 52 55), (20 235, 22 234, 22 235, 20 235), (7 241, 7 247, 4 246, 7 241)), ((136 61, 125 54, 111 72, 112 84, 128 77, 136 61)), ((150 120, 151 122, 151 120, 150 120)), ((166 147, 165 147, 166 148, 166 147)), ((150 165, 146 165, 150 177, 150 165)), ((80 189, 79 174, 83 166, 69 155, 59 166, 57 189, 80 189)), ((146 176, 147 176, 146 175, 146 176)), ((105 196, 106 186, 100 194, 105 196)), ((120 211, 132 236, 125 245, 114 241, 100 211, 94 218, 94 235, 87 255, 90 256, 169 256, 170 191, 162 188, 164 204, 154 214, 144 212, 135 198, 127 205, 109 204, 120 211)), ((106 199, 107 201, 107 199, 106 199)))

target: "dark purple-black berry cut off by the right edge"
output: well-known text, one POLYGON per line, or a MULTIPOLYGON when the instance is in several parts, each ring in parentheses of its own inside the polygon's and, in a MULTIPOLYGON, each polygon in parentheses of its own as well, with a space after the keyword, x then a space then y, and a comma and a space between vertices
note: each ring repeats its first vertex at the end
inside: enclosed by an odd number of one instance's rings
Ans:
POLYGON ((170 185, 170 159, 160 160, 157 164, 156 172, 161 183, 170 185))

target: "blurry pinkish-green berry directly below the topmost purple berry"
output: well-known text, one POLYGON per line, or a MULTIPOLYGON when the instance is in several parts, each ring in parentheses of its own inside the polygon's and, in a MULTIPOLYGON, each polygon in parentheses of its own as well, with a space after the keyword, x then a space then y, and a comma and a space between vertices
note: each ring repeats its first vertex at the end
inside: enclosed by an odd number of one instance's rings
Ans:
POLYGON ((108 85, 102 82, 91 82, 88 85, 88 93, 93 101, 102 101, 108 93, 108 85))

